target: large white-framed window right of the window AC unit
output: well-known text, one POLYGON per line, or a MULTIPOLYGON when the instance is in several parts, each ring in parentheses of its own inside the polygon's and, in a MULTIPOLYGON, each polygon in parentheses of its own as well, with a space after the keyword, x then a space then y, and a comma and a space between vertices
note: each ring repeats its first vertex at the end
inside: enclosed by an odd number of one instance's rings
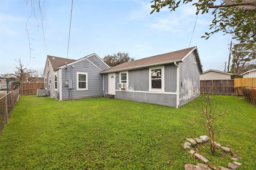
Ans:
POLYGON ((149 91, 164 92, 164 66, 149 68, 149 91))

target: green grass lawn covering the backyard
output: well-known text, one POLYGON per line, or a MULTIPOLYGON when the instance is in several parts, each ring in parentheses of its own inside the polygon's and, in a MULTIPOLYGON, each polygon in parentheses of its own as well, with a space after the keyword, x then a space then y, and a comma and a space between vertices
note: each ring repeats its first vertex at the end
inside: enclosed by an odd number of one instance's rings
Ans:
MULTIPOLYGON (((242 157, 238 170, 256 169, 256 107, 236 96, 212 96, 228 112, 215 124, 220 140, 242 157)), ((176 109, 118 99, 56 101, 20 96, 0 137, 0 169, 182 170, 200 162, 183 149, 206 135, 196 113, 200 98, 176 109)), ((200 149, 227 167, 230 154, 200 149)))

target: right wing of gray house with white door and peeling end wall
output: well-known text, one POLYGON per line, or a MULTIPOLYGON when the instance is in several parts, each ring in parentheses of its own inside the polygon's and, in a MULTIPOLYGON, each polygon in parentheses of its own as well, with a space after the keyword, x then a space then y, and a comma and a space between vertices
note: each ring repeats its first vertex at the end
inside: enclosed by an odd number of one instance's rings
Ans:
POLYGON ((197 47, 156 55, 102 70, 104 94, 179 107, 200 95, 203 73, 197 47))

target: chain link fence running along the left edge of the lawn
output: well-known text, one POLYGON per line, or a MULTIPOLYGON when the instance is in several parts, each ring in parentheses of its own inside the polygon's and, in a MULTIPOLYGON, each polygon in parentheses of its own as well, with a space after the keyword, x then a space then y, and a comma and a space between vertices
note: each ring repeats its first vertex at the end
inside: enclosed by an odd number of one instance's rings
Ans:
POLYGON ((19 96, 20 89, 17 89, 0 98, 0 135, 2 135, 2 131, 8 122, 15 104, 18 102, 19 96))

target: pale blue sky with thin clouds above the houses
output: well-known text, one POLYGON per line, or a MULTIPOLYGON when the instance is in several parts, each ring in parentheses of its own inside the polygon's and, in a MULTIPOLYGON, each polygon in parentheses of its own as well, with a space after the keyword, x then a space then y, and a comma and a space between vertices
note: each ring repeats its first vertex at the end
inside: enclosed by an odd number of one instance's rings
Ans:
POLYGON ((232 36, 201 38, 211 14, 200 14, 196 22, 196 8, 182 4, 150 15, 150 1, 74 0, 68 49, 72 0, 40 0, 41 15, 36 5, 32 12, 30 0, 0 0, 0 74, 14 73, 19 58, 26 68, 43 69, 47 55, 81 59, 124 52, 142 59, 194 46, 204 71, 224 71, 232 36))

